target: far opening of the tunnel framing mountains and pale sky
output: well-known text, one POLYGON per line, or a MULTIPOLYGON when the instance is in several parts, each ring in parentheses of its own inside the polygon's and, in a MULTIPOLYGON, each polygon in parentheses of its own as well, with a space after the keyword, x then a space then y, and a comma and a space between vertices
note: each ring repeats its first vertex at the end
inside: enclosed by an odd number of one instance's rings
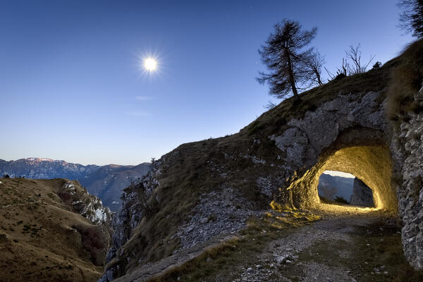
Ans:
POLYGON ((374 207, 373 192, 362 180, 343 171, 324 171, 319 176, 320 202, 374 207))

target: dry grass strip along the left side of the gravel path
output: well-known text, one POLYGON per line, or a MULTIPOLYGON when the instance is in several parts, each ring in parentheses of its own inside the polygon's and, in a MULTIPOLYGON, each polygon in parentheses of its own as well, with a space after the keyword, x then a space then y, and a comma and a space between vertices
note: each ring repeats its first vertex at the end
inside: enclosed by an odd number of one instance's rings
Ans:
POLYGON ((234 269, 244 266, 250 259, 253 261, 271 240, 318 219, 319 216, 301 212, 269 212, 262 219, 252 217, 239 237, 209 248, 199 257, 149 281, 209 281, 216 278, 216 274, 221 281, 231 281, 235 278, 234 269))

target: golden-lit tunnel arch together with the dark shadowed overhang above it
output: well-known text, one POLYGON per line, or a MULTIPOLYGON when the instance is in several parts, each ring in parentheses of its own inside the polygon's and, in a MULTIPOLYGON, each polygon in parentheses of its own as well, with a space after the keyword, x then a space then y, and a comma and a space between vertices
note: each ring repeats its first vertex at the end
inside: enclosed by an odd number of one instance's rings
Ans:
POLYGON ((315 161, 310 159, 305 171, 288 178, 286 188, 279 190, 275 200, 288 208, 324 209, 327 204, 319 197, 319 177, 324 171, 343 171, 353 174, 372 190, 374 209, 398 214, 392 167, 391 150, 381 130, 349 128, 323 149, 315 161))

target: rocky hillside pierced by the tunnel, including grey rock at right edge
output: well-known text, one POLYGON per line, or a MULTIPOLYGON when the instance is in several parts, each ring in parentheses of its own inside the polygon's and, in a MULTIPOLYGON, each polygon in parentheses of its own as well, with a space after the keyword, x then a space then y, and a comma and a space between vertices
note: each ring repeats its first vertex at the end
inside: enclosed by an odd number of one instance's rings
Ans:
MULTIPOLYGON (((102 281, 239 231, 269 204, 319 208, 317 185, 326 170, 357 176, 372 189, 375 207, 398 214, 405 255, 422 269, 423 108, 400 121, 400 130, 386 118, 395 65, 330 82, 302 94, 300 105, 282 102, 238 134, 161 157, 140 185, 125 190, 102 281)), ((421 91, 415 101, 422 100, 421 91)))

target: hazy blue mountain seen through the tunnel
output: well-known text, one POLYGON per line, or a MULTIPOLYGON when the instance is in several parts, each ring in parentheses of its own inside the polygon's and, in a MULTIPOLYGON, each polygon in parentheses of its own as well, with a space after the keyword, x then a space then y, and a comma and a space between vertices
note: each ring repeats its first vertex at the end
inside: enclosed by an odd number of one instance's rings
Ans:
POLYGON ((317 190, 320 196, 328 200, 334 200, 335 197, 343 197, 349 201, 353 194, 354 179, 322 173, 317 190))

